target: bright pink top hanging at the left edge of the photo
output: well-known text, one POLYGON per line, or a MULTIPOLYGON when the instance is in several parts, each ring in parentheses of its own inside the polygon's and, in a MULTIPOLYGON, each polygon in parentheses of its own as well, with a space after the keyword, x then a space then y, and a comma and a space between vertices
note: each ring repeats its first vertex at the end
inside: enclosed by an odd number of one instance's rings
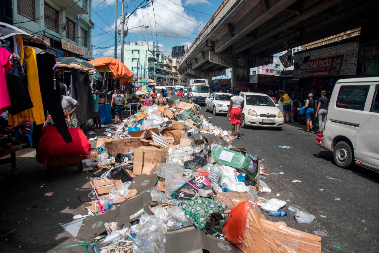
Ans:
POLYGON ((11 53, 5 48, 0 47, 0 109, 11 105, 11 99, 9 98, 8 86, 5 79, 5 73, 7 73, 12 66, 10 57, 11 53))

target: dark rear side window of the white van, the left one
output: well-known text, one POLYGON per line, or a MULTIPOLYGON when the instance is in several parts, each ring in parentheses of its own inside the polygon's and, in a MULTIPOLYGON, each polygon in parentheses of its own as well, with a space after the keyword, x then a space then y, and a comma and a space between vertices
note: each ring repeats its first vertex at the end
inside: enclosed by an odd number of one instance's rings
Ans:
POLYGON ((342 85, 335 106, 363 111, 370 85, 342 85))

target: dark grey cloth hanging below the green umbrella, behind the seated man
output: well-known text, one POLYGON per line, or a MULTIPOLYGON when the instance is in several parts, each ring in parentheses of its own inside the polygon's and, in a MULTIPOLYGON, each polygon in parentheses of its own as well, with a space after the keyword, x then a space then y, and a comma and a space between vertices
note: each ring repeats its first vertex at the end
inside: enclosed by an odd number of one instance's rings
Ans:
POLYGON ((79 125, 95 117, 93 96, 88 73, 72 70, 71 96, 80 103, 75 111, 79 125))

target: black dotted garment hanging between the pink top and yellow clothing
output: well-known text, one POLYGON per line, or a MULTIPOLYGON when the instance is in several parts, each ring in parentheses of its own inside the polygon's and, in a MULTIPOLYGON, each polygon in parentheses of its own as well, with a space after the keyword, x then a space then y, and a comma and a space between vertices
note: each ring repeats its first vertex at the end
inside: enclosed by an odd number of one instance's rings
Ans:
POLYGON ((11 106, 8 106, 10 114, 16 115, 22 111, 33 107, 29 95, 28 84, 25 73, 20 65, 20 60, 13 57, 12 66, 6 73, 6 82, 8 85, 11 106))

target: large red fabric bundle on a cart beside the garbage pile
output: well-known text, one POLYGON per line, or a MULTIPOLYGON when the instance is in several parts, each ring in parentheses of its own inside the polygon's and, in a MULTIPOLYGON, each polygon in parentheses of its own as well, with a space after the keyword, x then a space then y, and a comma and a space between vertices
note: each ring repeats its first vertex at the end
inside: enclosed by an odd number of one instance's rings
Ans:
POLYGON ((66 142, 55 126, 44 126, 39 140, 36 160, 47 164, 51 158, 81 156, 82 159, 91 153, 91 144, 79 127, 69 128, 72 142, 66 142))

